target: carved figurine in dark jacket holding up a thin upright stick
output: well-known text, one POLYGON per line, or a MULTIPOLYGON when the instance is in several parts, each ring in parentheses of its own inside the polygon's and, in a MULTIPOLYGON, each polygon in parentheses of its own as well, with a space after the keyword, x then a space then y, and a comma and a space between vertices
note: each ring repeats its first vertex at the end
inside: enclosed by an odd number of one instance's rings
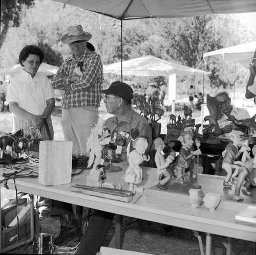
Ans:
POLYGON ((192 159, 195 155, 202 154, 200 149, 194 151, 193 136, 193 132, 184 131, 178 137, 178 140, 181 142, 182 147, 176 160, 174 171, 177 176, 178 183, 181 185, 188 185, 188 181, 185 178, 185 170, 189 169, 189 172, 191 172, 191 170, 193 170, 194 168, 194 162, 192 159))

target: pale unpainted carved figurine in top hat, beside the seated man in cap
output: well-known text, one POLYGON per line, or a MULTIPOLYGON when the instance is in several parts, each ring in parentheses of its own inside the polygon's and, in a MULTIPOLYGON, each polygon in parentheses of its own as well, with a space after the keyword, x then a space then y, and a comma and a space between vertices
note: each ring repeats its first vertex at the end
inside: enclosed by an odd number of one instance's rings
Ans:
POLYGON ((90 157, 88 161, 88 168, 93 165, 91 171, 96 171, 97 166, 103 163, 102 146, 109 144, 111 137, 108 130, 104 127, 104 120, 98 119, 98 123, 92 128, 92 132, 87 140, 87 152, 90 151, 90 157))

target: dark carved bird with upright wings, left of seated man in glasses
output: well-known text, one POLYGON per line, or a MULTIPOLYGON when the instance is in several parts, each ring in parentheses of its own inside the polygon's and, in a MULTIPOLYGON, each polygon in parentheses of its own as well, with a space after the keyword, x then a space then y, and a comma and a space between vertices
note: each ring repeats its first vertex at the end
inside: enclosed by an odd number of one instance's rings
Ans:
POLYGON ((209 115, 204 117, 204 121, 209 121, 209 125, 206 127, 206 129, 211 131, 215 128, 215 134, 219 136, 221 134, 221 129, 219 127, 218 120, 221 119, 222 112, 217 99, 207 94, 206 106, 209 110, 209 115))

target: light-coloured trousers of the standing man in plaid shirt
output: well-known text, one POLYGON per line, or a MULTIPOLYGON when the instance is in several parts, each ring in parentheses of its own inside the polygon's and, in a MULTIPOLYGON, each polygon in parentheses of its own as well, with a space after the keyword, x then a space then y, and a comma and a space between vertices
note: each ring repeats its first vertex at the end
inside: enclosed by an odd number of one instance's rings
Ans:
POLYGON ((99 108, 95 106, 71 107, 62 109, 61 127, 65 141, 73 142, 72 155, 87 156, 87 138, 91 129, 97 124, 99 108))

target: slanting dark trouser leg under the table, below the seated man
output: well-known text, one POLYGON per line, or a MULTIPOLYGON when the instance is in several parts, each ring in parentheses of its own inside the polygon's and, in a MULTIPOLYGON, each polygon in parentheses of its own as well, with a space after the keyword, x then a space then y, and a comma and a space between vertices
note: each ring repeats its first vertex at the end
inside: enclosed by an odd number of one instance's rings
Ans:
POLYGON ((75 254, 95 255, 103 246, 115 214, 95 210, 75 254))

